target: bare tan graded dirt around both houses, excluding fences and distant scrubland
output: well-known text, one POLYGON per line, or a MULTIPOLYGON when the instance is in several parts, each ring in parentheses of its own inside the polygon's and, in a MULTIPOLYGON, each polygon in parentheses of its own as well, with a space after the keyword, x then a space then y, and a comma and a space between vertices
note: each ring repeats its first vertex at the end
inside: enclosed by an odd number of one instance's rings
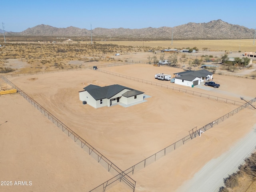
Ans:
MULTIPOLYGON (((133 64, 102 70, 159 82, 154 79, 154 74, 173 74, 181 69, 133 64)), ((251 88, 255 80, 221 75, 214 75, 214 79, 221 84, 220 88, 205 90, 199 86, 188 88, 170 82, 160 83, 238 101, 239 96, 248 100, 256 96, 256 90, 251 88)), ((10 80, 122 170, 187 136, 192 128, 200 128, 238 107, 96 70, 32 75, 10 80), (121 84, 143 91, 150 98, 146 99, 147 102, 128 108, 116 105, 94 109, 82 105, 79 100, 78 91, 88 84, 121 84)), ((12 191, 59 191, 58 187, 61 191, 70 191, 70 188, 88 191, 111 178, 104 168, 21 96, 2 96, 0 104, 4 108, 0 110, 0 120, 8 120, 0 126, 3 151, 0 169, 4 173, 1 180, 33 182, 32 186, 17 188, 1 186, 0 191, 5 191, 7 187, 12 191), (39 157, 34 158, 34 154, 39 157), (38 166, 39 162, 41 166, 38 166), (63 170, 66 166, 68 170, 63 170), (42 183, 49 183, 52 188, 42 183)), ((240 138, 251 132, 256 123, 255 117, 255 111, 244 109, 200 138, 191 140, 190 144, 136 171, 131 175, 136 180, 136 191, 179 191, 179 186, 192 178, 207 162, 227 152, 240 138)), ((127 186, 120 183, 108 191, 126 190, 127 186)))

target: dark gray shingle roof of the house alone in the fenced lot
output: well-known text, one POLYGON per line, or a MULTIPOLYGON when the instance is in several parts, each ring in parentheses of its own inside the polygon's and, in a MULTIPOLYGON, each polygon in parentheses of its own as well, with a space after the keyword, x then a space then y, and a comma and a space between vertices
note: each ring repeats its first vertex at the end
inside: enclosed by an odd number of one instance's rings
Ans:
POLYGON ((95 100, 100 100, 104 98, 109 99, 124 89, 134 90, 118 84, 104 86, 104 87, 100 87, 96 85, 88 85, 84 88, 84 90, 86 90, 95 100))

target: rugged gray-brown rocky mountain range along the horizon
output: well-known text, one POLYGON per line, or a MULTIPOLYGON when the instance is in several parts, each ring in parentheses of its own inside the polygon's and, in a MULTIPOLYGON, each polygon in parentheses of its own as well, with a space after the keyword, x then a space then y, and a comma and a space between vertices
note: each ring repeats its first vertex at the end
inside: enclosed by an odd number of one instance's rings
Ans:
MULTIPOLYGON (((1 31, 0 31, 1 32, 1 31)), ((6 36, 54 36, 54 37, 98 37, 119 38, 130 40, 166 40, 166 39, 251 39, 254 29, 229 24, 222 20, 212 20, 207 23, 187 23, 175 27, 160 28, 95 28, 93 30, 76 27, 56 28, 40 24, 22 32, 6 32, 6 36)))

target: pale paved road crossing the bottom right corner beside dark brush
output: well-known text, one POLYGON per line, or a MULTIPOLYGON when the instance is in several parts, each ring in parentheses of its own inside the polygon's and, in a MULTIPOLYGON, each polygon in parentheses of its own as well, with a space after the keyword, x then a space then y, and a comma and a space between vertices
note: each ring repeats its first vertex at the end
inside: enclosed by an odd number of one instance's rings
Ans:
POLYGON ((252 132, 236 143, 228 152, 208 162, 194 177, 185 182, 177 192, 218 192, 224 186, 223 178, 236 172, 244 158, 250 156, 256 146, 256 124, 252 132))

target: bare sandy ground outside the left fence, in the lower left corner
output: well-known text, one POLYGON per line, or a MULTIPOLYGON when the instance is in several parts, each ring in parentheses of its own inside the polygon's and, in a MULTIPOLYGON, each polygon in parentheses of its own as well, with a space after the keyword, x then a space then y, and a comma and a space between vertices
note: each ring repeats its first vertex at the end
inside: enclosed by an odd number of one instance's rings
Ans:
POLYGON ((0 181, 12 182, 1 192, 83 191, 113 177, 19 94, 0 106, 0 181))

